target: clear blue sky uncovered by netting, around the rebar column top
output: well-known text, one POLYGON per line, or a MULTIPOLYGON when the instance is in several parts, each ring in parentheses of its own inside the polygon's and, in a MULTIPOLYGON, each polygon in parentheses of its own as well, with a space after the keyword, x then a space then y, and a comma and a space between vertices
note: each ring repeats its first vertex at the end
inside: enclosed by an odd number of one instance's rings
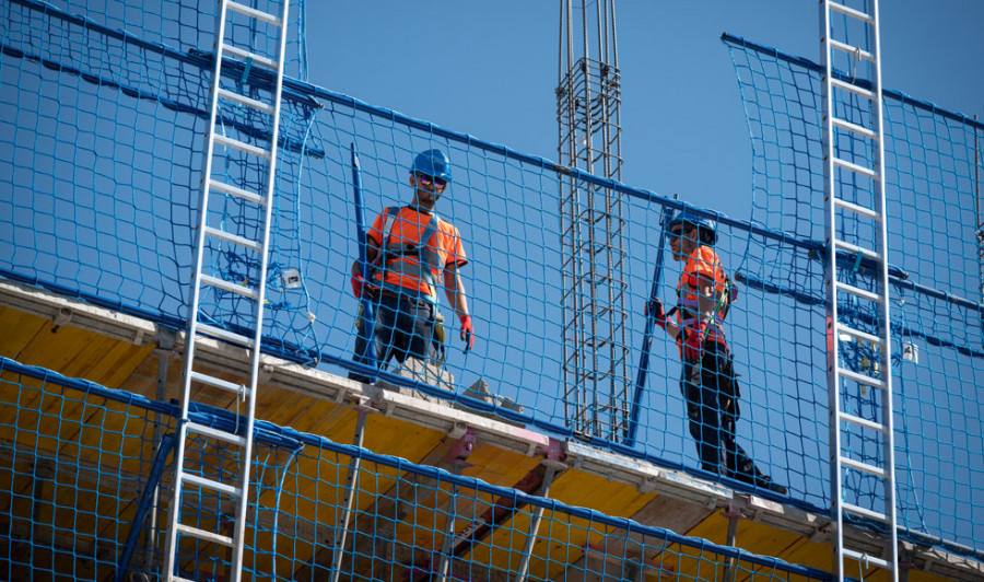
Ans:
MULTIPOLYGON (((622 181, 748 218, 751 149, 721 33, 819 60, 811 1, 621 0, 622 181)), ((984 117, 984 2, 882 2, 886 88, 984 117)), ((309 80, 557 160, 557 0, 307 4, 309 80)))

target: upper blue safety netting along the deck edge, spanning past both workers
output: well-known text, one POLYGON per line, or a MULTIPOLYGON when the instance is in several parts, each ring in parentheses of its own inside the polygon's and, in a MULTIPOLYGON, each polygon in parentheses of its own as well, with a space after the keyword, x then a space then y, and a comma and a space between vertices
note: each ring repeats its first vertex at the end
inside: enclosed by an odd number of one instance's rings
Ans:
MULTIPOLYGON (((461 233, 469 260, 461 275, 478 339, 462 353, 457 317, 442 300, 448 329, 443 368, 454 382, 415 383, 394 375, 393 366, 380 377, 553 435, 827 512, 822 173, 815 159, 819 84, 808 62, 730 45, 757 153, 753 221, 745 222, 308 84, 304 10, 297 7, 271 223, 268 352, 338 374, 365 371, 352 360, 360 304, 349 288, 359 256, 351 149, 359 153, 359 198, 368 222, 384 208, 410 201, 413 156, 437 148, 453 170, 437 213, 461 233), (590 286, 600 295, 628 298, 624 314, 612 314, 613 307, 596 313, 609 321, 624 317, 625 328, 613 337, 624 338, 617 347, 632 354, 628 377, 583 403, 612 429, 607 438, 575 434, 565 410, 561 209, 572 188, 599 199, 618 196, 618 220, 624 222, 623 280, 599 277, 590 286), (715 251, 740 288, 725 324, 740 384, 737 442, 759 469, 788 488, 788 497, 765 488, 766 481, 745 484, 701 469, 678 349, 643 315, 654 270, 657 293, 667 306, 676 302, 680 263, 663 244, 660 217, 684 209, 717 219, 715 251), (664 268, 656 269, 660 256, 664 268), (642 346, 648 340, 644 366, 642 346), (478 381, 493 398, 468 395, 466 388, 478 381)), ((276 4, 260 8, 274 11, 276 4)), ((214 14, 199 13, 195 3, 13 0, 0 7, 0 275, 183 328, 214 14)), ((269 48, 261 31, 233 27, 230 34, 269 48)), ((249 67, 237 69, 230 82, 244 94, 271 90, 269 75, 249 67)), ((894 186, 889 220, 905 225, 890 225, 890 243, 898 248, 890 257, 898 273, 892 325, 900 358, 900 508, 911 535, 980 552, 984 455, 975 386, 982 310, 977 222, 970 209, 981 126, 901 95, 889 98, 895 100, 887 114, 894 186), (894 309, 903 298, 904 307, 894 309), (901 359, 906 346, 916 349, 918 363, 901 359)), ((269 131, 263 124, 246 109, 220 114, 227 136, 261 141, 269 131)), ((215 173, 244 189, 262 183, 262 168, 232 151, 215 173)), ((210 206, 213 225, 257 237, 261 223, 246 203, 212 196, 222 202, 210 206)), ((590 220, 591 210, 583 206, 587 196, 575 198, 579 202, 570 211, 590 220)), ((590 254, 598 243, 574 244, 590 254)), ((259 270, 258 261, 234 247, 219 247, 203 268, 239 283, 255 282, 259 270)), ((222 292, 203 298, 201 311, 230 329, 248 327, 251 317, 247 302, 222 292)), ((856 317, 870 323, 871 315, 856 317)), ((594 357, 569 368, 570 374, 614 366, 611 354, 619 350, 591 348, 594 357)), ((859 350, 857 365, 866 365, 865 358, 859 350)), ((854 406, 868 406, 872 392, 858 391, 854 406)), ((868 487, 858 484, 858 494, 877 497, 868 487)))

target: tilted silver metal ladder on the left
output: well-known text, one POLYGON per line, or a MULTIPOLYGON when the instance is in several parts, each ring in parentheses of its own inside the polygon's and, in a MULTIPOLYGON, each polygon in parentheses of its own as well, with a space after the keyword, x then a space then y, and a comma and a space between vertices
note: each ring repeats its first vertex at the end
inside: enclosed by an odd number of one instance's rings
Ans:
MULTIPOLYGON (((184 396, 181 398, 181 418, 177 426, 177 443, 174 454, 174 497, 171 500, 171 515, 167 526, 167 539, 165 548, 165 566, 164 580, 185 580, 175 574, 177 567, 176 558, 178 554, 179 536, 188 536, 197 538, 204 543, 212 543, 231 548, 232 561, 230 564, 229 579, 237 582, 242 579, 243 568, 243 547, 246 535, 246 511, 249 493, 249 470, 253 455, 253 427, 256 405, 256 389, 259 375, 260 363, 260 338, 262 334, 263 321, 263 298, 266 294, 267 264, 270 244, 270 218, 272 212, 272 198, 274 190, 274 176, 277 168, 277 143, 278 130, 280 127, 280 101, 281 86, 283 81, 283 61, 286 46, 286 21, 290 8, 290 0, 283 0, 280 14, 269 14, 245 4, 229 0, 219 2, 219 12, 215 24, 215 45, 214 45, 214 68, 212 70, 212 84, 210 93, 210 115, 208 133, 206 135, 206 152, 202 160, 202 179, 201 179, 201 197, 199 199, 199 219, 196 241, 195 255, 195 275, 191 282, 191 304, 190 316, 188 322, 188 333, 186 338, 185 368, 184 368, 184 396), (225 39, 226 25, 232 19, 243 22, 250 22, 254 25, 261 23, 263 26, 272 27, 278 31, 279 50, 276 57, 254 54, 251 50, 229 44, 225 39), (232 57, 224 62, 226 56, 232 57), (237 72, 241 78, 248 75, 249 69, 260 66, 268 69, 272 73, 273 90, 272 103, 266 103, 248 97, 246 95, 230 91, 221 86, 223 68, 231 69, 242 68, 245 72, 237 72), (267 149, 243 141, 220 136, 215 132, 215 121, 218 117, 220 100, 237 106, 255 109, 271 117, 271 129, 269 136, 269 147, 267 149), (256 156, 259 163, 266 163, 266 184, 265 191, 253 193, 243 188, 219 182, 212 177, 212 161, 215 155, 215 146, 224 148, 233 148, 244 152, 247 156, 256 156), (223 231, 208 224, 209 217, 209 199, 212 191, 223 195, 234 196, 245 200, 247 205, 255 205, 258 212, 263 217, 261 228, 261 240, 254 241, 238 234, 223 231), (235 245, 244 252, 256 253, 259 256, 259 277, 255 287, 239 284, 229 281, 220 277, 202 272, 202 264, 206 249, 210 243, 225 243, 235 245), (254 323, 256 328, 253 329, 250 336, 233 333, 214 325, 203 324, 199 321, 199 301, 202 290, 215 288, 226 292, 236 293, 247 298, 255 306, 254 323), (215 377, 204 372, 196 370, 195 349, 196 344, 204 338, 219 339, 231 342, 236 346, 244 347, 250 351, 251 366, 249 375, 249 385, 236 384, 215 377), (232 430, 207 427, 189 420, 189 404, 192 396, 192 385, 202 385, 211 388, 218 388, 233 393, 244 400, 245 404, 245 423, 239 424, 232 430), (189 436, 190 435, 190 436, 189 436), (237 475, 234 485, 229 482, 220 482, 214 479, 196 475, 185 470, 185 453, 186 444, 189 438, 208 439, 224 445, 232 445, 238 449, 237 455, 237 475), (181 523, 180 513, 183 500, 186 494, 186 488, 191 486, 202 492, 210 494, 219 493, 224 498, 232 498, 235 503, 235 517, 233 522, 232 536, 223 535, 219 532, 206 531, 199 527, 181 523)), ((268 28, 269 30, 269 28, 268 28)), ((221 508, 221 503, 220 503, 221 508)))

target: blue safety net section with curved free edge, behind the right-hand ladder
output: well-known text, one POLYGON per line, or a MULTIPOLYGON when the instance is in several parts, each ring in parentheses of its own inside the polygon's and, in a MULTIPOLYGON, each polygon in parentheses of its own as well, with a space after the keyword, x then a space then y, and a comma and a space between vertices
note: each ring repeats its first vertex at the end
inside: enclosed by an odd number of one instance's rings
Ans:
MULTIPOLYGON (((795 356, 776 362, 775 372, 795 379, 786 384, 790 389, 822 395, 827 379, 818 372, 825 366, 825 290, 820 253, 827 218, 820 67, 741 38, 725 35, 724 42, 738 73, 752 140, 752 220, 790 233, 785 244, 751 236, 749 256, 758 260, 742 268, 751 284, 781 298, 770 302, 786 305, 772 321, 781 334, 774 345, 795 356), (806 325, 790 325, 799 322, 806 325), (805 362, 815 372, 792 375, 805 362)), ((980 550, 984 125, 897 91, 883 93, 899 519, 912 532, 980 550)), ((839 117, 870 127, 864 105, 860 98, 835 104, 839 117)), ((839 155, 869 160, 860 141, 842 139, 839 155)), ((842 184, 839 197, 874 207, 872 189, 858 178, 842 184)), ((874 247, 872 232, 855 234, 874 247)), ((876 286, 859 257, 840 257, 839 269, 839 280, 865 289, 876 286)), ((842 299, 837 309, 855 328, 877 333, 877 316, 865 303, 842 299)), ((841 350, 843 365, 876 372, 879 358, 869 345, 848 341, 841 350)), ((880 391, 851 384, 842 386, 845 411, 877 418, 880 391)), ((856 457, 882 461, 877 443, 859 434, 846 441, 856 457)), ((875 480, 845 485, 855 499, 877 499, 883 491, 875 480)))

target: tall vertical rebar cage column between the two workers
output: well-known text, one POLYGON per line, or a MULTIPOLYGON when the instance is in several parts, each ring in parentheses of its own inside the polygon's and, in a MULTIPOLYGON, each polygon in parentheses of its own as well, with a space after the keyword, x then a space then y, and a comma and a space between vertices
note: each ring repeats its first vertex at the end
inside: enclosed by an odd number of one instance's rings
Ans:
MULTIPOLYGON (((561 2, 558 152, 567 167, 599 170, 604 177, 619 179, 614 0, 599 0, 594 14, 586 0, 576 12, 572 3, 561 2)), ((563 176, 561 182, 564 414, 576 434, 619 442, 629 433, 631 386, 622 199, 610 188, 576 178, 563 176)))

